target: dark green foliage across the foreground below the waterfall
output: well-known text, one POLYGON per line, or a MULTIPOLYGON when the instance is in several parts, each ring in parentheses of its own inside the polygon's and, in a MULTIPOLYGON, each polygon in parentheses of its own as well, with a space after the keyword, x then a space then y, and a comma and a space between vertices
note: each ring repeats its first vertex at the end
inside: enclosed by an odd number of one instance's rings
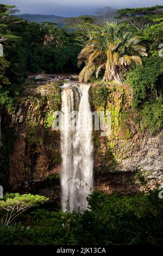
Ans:
POLYGON ((163 201, 158 190, 133 196, 94 192, 90 210, 35 210, 14 227, 0 228, 1 245, 162 245, 163 201), (84 234, 84 235, 83 235, 84 234))

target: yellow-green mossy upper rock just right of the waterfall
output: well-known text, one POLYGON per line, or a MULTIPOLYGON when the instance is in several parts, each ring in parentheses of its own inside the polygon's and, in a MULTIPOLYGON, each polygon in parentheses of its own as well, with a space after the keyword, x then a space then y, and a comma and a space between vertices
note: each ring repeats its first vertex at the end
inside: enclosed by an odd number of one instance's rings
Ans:
MULTIPOLYGON (((124 156, 121 146, 132 137, 130 131, 130 89, 115 84, 93 84, 90 88, 90 103, 94 111, 111 112, 111 134, 101 138, 100 131, 93 131, 95 158, 101 159, 109 171, 115 170, 118 159, 124 156), (120 142, 121 141, 121 142, 120 142), (100 145, 104 145, 101 149, 100 145)), ((97 160, 98 161, 98 160, 97 160)))

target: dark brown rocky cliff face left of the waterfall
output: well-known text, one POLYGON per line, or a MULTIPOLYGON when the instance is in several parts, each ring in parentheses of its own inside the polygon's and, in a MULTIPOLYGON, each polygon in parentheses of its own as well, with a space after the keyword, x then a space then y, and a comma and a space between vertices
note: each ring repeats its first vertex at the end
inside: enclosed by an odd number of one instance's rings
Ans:
POLYGON ((52 114, 61 104, 60 89, 55 83, 33 85, 23 94, 11 113, 3 114, 2 120, 12 130, 8 185, 12 191, 41 193, 58 199, 60 135, 51 126, 52 114))

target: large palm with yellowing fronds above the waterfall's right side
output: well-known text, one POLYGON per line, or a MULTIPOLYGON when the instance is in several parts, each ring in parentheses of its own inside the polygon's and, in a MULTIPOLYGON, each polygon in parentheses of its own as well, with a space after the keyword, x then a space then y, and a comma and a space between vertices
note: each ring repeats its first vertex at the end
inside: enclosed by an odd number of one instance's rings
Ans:
POLYGON ((147 56, 146 48, 139 45, 138 36, 125 32, 123 24, 105 22, 92 29, 91 36, 78 55, 78 66, 85 63, 79 81, 87 82, 93 73, 96 78, 103 71, 102 81, 122 84, 122 74, 131 64, 142 64, 140 56, 147 56))

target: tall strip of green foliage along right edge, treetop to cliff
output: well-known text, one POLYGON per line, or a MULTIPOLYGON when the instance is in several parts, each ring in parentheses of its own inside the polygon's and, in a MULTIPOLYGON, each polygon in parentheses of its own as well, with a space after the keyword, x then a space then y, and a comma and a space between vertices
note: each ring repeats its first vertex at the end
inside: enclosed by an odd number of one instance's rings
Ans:
POLYGON ((137 109, 141 130, 149 129, 152 133, 162 128, 163 120, 163 61, 162 61, 162 25, 156 19, 154 24, 146 26, 140 35, 148 50, 148 57, 143 58, 143 65, 128 72, 127 83, 133 88, 132 106, 137 109))

